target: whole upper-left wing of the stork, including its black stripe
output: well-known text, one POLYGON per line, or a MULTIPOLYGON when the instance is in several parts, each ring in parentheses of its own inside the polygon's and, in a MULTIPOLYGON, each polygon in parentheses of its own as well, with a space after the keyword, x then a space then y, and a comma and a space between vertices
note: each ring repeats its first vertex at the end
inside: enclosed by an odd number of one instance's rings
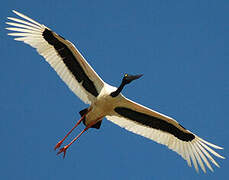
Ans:
POLYGON ((6 23, 13 27, 6 29, 15 31, 8 35, 17 36, 15 40, 36 48, 68 87, 82 101, 91 104, 103 88, 104 82, 76 47, 48 27, 17 11, 13 12, 23 20, 8 17, 12 22, 6 23))

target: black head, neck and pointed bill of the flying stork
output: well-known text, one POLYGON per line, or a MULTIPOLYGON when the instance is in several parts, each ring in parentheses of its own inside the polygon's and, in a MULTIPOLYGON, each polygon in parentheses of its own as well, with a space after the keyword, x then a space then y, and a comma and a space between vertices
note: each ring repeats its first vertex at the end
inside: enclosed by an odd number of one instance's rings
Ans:
POLYGON ((110 95, 112 97, 116 97, 119 95, 119 93, 122 91, 122 89, 124 88, 125 85, 131 83, 133 80, 136 80, 140 77, 142 77, 143 74, 139 74, 139 75, 130 75, 130 74, 125 74, 124 77, 122 78, 122 83, 121 85, 118 87, 118 89, 114 92, 112 92, 110 95))

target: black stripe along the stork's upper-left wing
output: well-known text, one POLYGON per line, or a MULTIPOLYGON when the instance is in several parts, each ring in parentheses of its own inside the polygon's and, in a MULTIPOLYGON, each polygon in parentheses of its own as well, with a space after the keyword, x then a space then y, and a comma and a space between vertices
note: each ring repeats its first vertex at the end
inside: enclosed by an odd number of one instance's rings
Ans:
POLYGON ((67 47, 67 45, 59 41, 54 36, 53 32, 48 29, 45 29, 45 31, 43 32, 43 37, 50 45, 52 45, 55 48, 57 53, 62 58, 64 64, 71 71, 75 79, 79 83, 82 82, 82 86, 93 96, 97 97, 99 93, 94 83, 88 78, 87 74, 84 72, 83 68, 80 66, 76 57, 73 55, 72 51, 67 47))

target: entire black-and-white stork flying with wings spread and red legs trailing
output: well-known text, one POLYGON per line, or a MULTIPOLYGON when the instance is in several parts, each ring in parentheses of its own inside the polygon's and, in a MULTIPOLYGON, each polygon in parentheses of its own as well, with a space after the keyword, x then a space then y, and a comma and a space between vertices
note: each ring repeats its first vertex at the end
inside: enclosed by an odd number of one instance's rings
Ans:
POLYGON ((73 93, 90 105, 79 112, 80 120, 57 143, 55 150, 61 147, 64 140, 81 122, 86 126, 85 129, 68 145, 60 148, 57 154, 64 153, 63 156, 65 156, 66 150, 85 131, 89 128, 99 129, 103 118, 107 118, 133 133, 166 145, 181 155, 189 166, 192 161, 197 172, 198 165, 203 172, 206 172, 205 166, 213 171, 209 161, 219 167, 211 154, 224 159, 213 150, 213 148, 223 149, 222 147, 203 140, 185 129, 175 119, 133 102, 121 94, 123 88, 140 78, 141 74, 125 74, 120 86, 113 87, 98 76, 70 41, 28 16, 14 10, 13 12, 21 18, 8 17, 10 21, 6 24, 10 27, 6 29, 14 31, 8 35, 16 36, 15 40, 34 47, 73 93))

